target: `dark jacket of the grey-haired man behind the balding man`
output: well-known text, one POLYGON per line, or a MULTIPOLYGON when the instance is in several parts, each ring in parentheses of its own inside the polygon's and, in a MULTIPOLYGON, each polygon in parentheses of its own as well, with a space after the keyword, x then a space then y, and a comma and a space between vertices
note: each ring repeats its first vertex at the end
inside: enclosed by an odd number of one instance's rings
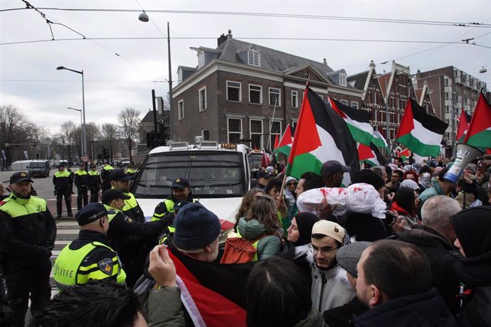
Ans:
POLYGON ((397 232, 393 240, 412 243, 425 252, 431 265, 433 286, 440 292, 443 301, 454 316, 460 304, 457 299, 459 280, 453 266, 461 257, 448 237, 426 225, 414 225, 411 230, 397 232))

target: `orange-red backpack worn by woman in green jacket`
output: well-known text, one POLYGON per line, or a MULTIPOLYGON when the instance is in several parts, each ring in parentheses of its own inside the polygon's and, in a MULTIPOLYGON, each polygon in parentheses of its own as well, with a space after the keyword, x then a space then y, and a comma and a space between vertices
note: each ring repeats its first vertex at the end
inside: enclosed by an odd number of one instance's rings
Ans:
POLYGON ((243 264, 258 261, 258 242, 267 235, 255 240, 245 240, 238 233, 231 232, 225 242, 225 249, 220 259, 221 264, 243 264))

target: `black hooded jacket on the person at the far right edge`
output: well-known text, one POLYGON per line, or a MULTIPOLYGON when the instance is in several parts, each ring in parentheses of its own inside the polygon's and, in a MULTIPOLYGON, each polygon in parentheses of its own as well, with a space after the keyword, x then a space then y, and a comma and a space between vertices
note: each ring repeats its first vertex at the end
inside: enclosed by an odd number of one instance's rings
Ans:
POLYGON ((459 326, 491 326, 491 208, 476 207, 450 217, 465 258, 455 273, 466 286, 459 326))

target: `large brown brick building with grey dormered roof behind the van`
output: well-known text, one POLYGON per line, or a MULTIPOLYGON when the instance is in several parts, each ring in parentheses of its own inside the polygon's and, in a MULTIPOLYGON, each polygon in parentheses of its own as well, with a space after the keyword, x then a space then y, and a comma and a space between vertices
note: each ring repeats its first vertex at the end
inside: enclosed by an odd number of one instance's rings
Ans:
POLYGON ((217 48, 191 49, 198 66, 180 65, 173 89, 176 141, 209 134, 211 140, 271 147, 287 124, 295 129, 307 81, 323 97, 361 106, 361 90, 348 85, 345 70, 333 71, 325 59, 319 63, 239 41, 230 30, 218 38, 217 48))

